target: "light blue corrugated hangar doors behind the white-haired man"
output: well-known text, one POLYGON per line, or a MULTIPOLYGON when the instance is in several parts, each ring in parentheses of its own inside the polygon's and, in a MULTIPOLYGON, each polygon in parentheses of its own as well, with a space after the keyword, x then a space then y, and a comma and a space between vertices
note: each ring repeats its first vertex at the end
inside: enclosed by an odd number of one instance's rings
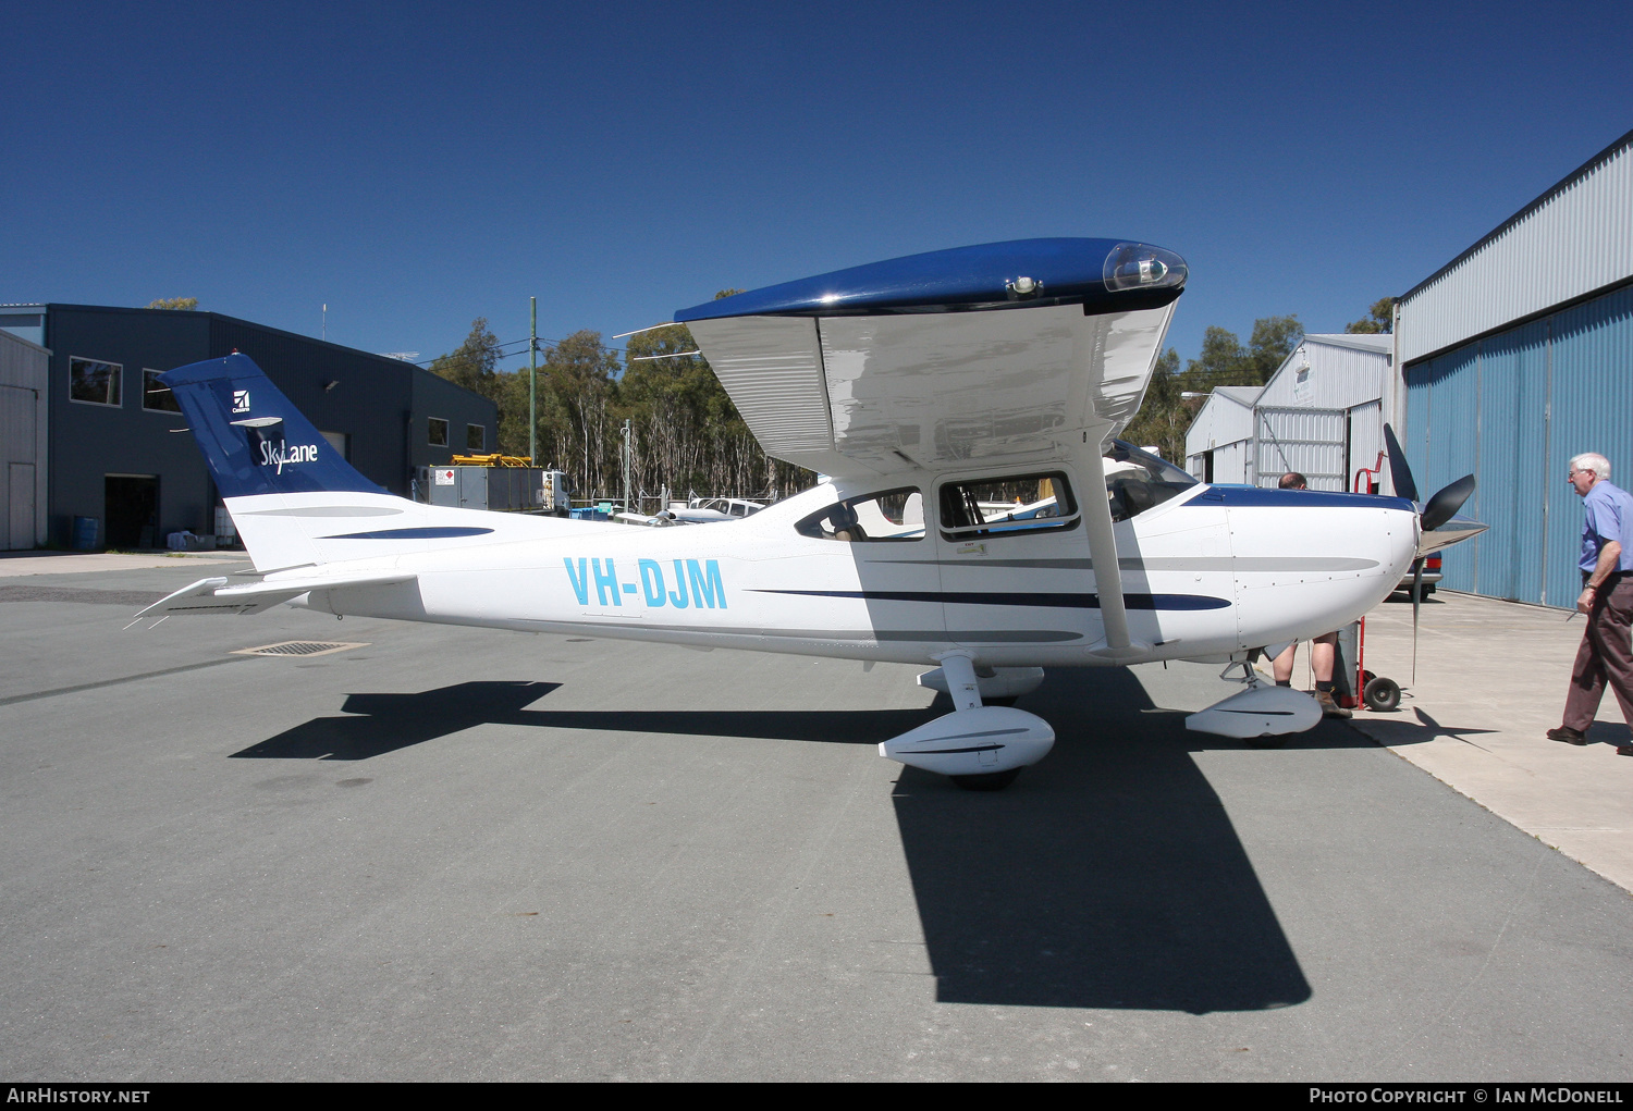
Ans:
POLYGON ((1600 452, 1633 485, 1633 287, 1406 369, 1419 494, 1475 473, 1463 512, 1491 529, 1448 548, 1445 586, 1569 609, 1581 499, 1569 458, 1600 452))

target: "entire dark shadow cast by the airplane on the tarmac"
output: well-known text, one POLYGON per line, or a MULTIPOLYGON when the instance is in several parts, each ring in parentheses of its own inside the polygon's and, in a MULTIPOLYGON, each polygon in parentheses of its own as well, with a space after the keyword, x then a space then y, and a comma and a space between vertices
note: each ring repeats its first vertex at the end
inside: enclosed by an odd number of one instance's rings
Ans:
MULTIPOLYGON (((349 695, 235 757, 366 760, 483 723, 877 744, 947 710, 527 710, 549 682, 349 695)), ((937 998, 1181 1010, 1288 1007, 1310 984, 1190 754, 1182 711, 1127 669, 1055 672, 1022 705, 1055 724, 1048 760, 1001 793, 903 768, 892 803, 937 998)), ((1220 746, 1231 744, 1218 741, 1220 746)), ((1367 746, 1318 728, 1303 746, 1367 746)))

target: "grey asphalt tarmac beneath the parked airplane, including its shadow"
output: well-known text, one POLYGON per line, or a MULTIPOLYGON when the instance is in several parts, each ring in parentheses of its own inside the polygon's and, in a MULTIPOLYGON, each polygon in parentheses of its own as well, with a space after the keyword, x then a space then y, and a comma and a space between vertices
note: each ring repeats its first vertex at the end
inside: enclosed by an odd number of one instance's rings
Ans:
POLYGON ((1186 733, 1218 667, 1052 672, 975 795, 877 755, 911 667, 124 631, 176 563, 0 578, 8 1082, 1630 1075, 1625 891, 1346 724, 1186 733))

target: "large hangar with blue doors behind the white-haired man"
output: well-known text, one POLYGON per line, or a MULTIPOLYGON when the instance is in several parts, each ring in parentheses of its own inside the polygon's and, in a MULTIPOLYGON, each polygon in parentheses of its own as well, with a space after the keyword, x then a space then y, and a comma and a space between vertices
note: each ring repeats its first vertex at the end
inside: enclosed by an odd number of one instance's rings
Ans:
POLYGON ((1435 489, 1473 471, 1491 530, 1444 584, 1569 609, 1581 499, 1568 462, 1633 481, 1633 132, 1600 150, 1396 303, 1403 447, 1435 489))

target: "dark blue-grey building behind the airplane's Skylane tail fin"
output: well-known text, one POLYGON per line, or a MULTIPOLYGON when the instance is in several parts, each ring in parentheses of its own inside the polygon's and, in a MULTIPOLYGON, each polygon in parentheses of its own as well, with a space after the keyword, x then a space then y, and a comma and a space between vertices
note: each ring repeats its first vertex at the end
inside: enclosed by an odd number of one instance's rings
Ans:
POLYGON ((220 504, 170 393, 173 367, 240 351, 345 457, 412 496, 416 468, 495 450, 493 401, 420 367, 209 312, 3 305, 0 328, 49 347, 47 540, 75 517, 101 520, 103 547, 163 547, 216 532, 220 504))

